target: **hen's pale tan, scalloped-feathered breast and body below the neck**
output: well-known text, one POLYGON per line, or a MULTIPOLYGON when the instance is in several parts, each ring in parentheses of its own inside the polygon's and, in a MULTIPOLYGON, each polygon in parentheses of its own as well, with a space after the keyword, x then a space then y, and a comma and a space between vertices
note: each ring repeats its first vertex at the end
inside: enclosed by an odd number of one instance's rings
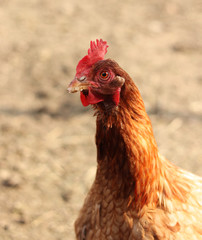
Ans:
MULTIPOLYGON (((119 186, 115 187, 114 181, 107 180, 103 173, 97 173, 75 222, 76 239, 202 239, 201 210, 195 199, 190 199, 189 205, 168 200, 172 210, 145 206, 138 212, 130 206, 132 196, 120 196, 119 186)), ((199 193, 196 195, 200 197, 199 193)))

